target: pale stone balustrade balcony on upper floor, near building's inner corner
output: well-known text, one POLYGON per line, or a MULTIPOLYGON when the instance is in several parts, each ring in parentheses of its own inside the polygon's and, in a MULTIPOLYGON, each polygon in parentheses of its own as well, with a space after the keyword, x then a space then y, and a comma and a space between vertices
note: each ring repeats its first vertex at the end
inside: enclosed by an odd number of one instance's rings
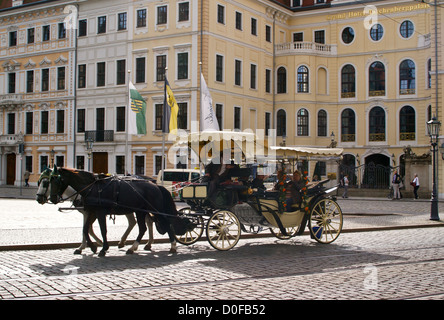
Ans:
POLYGON ((337 53, 337 46, 331 44, 298 41, 276 45, 277 55, 313 54, 334 56, 337 53))

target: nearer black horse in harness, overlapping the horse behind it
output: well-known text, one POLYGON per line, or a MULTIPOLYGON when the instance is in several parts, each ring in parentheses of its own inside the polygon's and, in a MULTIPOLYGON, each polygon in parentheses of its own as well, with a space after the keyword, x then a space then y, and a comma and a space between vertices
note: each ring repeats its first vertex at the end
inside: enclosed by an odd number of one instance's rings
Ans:
MULTIPOLYGON (((170 192, 162 186, 143 179, 102 177, 96 178, 93 173, 57 168, 50 178, 50 201, 57 204, 61 195, 70 186, 83 198, 85 211, 94 213, 99 221, 103 238, 103 248, 99 256, 105 256, 109 248, 107 241, 106 215, 124 215, 134 212, 139 226, 139 235, 128 254, 137 250, 147 227, 145 217, 153 216, 157 230, 160 234, 168 233, 171 242, 171 253, 176 252, 175 235, 183 235, 194 228, 194 225, 186 218, 178 215, 176 205, 170 192)), ((83 227, 83 235, 93 252, 97 247, 91 241, 88 234, 87 221, 83 227)))

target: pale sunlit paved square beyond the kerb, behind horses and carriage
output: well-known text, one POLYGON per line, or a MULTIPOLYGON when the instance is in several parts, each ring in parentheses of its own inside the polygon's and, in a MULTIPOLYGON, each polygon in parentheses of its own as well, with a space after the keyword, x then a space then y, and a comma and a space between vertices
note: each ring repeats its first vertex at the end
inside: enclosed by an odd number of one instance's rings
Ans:
MULTIPOLYGON (((35 187, 0 187, 0 250, 76 247, 81 240, 83 216, 77 211, 59 212, 60 205, 40 205, 35 201, 35 187)), ((388 200, 386 198, 338 199, 344 213, 344 232, 397 228, 444 226, 443 221, 430 221, 430 200, 388 200)), ((178 207, 185 206, 177 203, 178 207)), ((444 202, 439 206, 444 219, 444 202)), ((100 234, 98 224, 95 232, 100 234)), ((124 216, 108 222, 108 239, 116 242, 127 227, 124 216)), ((137 237, 135 227, 128 243, 137 237)), ((167 236, 155 232, 157 241, 167 236)), ((145 236, 147 239, 147 235, 145 236)))

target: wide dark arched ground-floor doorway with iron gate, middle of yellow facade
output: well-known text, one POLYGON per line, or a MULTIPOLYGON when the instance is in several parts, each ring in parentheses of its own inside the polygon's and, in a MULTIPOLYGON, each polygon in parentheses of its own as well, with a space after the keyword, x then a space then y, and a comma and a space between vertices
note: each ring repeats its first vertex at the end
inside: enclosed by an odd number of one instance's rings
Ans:
POLYGON ((390 158, 383 154, 373 154, 365 158, 362 187, 385 189, 390 186, 390 158))

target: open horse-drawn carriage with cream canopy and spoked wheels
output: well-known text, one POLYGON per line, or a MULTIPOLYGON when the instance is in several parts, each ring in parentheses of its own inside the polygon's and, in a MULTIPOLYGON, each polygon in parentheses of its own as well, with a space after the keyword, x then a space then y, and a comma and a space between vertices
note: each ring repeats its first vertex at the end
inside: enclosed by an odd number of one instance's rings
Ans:
MULTIPOLYGON (((200 154, 202 145, 207 141, 205 139, 203 137, 204 143, 199 146, 200 154)), ((338 157, 342 154, 342 149, 270 148, 285 152, 286 157, 293 159, 300 156, 338 157)), ((176 236, 176 239, 190 245, 198 241, 205 230, 211 246, 218 250, 229 250, 237 244, 241 232, 258 233, 269 229, 279 239, 290 239, 302 235, 308 225, 313 239, 320 243, 331 243, 341 233, 343 218, 341 208, 331 195, 337 186, 326 187, 328 181, 307 183, 301 191, 303 201, 292 209, 287 209, 282 201, 282 190, 254 188, 251 178, 219 184, 211 195, 208 182, 187 186, 181 190, 181 198, 187 207, 181 209, 180 213, 192 220, 196 227, 182 236, 176 236)))

